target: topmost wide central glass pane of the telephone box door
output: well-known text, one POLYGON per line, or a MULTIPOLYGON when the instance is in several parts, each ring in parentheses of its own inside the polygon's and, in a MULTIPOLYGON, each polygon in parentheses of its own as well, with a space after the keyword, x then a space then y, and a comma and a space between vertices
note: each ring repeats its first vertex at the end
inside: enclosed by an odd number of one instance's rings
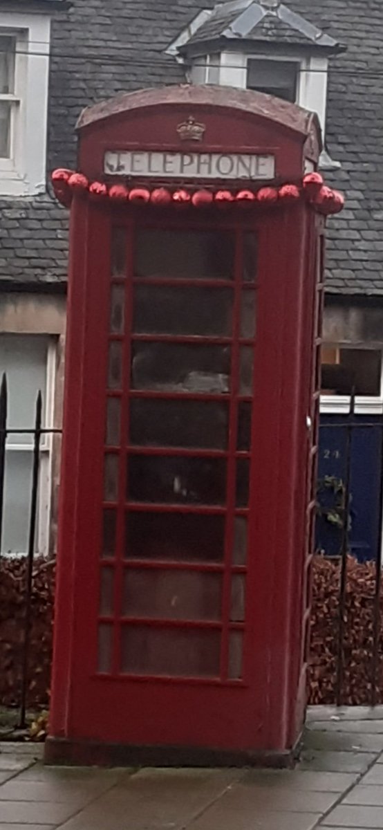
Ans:
POLYGON ((134 276, 232 280, 235 235, 228 231, 142 230, 134 276))

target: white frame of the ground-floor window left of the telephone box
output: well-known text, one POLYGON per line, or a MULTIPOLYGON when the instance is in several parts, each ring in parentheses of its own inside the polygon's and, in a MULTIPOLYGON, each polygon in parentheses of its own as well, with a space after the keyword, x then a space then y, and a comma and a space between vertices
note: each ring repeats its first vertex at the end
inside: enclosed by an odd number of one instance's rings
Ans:
MULTIPOLYGON (((22 334, 23 337, 33 337, 33 334, 22 334)), ((50 337, 46 356, 46 396, 45 411, 42 423, 44 428, 53 426, 55 407, 56 387, 56 338, 50 337)), ((28 425, 27 425, 28 426, 28 425)), ((32 425, 31 427, 32 428, 32 425)), ((51 432, 43 432, 40 443, 40 467, 39 467, 39 500, 37 503, 37 538, 35 540, 36 553, 47 557, 50 549, 50 527, 51 527, 51 492, 52 492, 52 463, 53 463, 53 435, 51 432)), ((6 452, 33 452, 33 444, 20 443, 12 440, 12 433, 7 440, 6 452)), ((30 505, 28 505, 29 507, 30 505)), ((25 555, 27 551, 20 551, 18 554, 25 555)), ((7 555, 5 553, 2 554, 7 555)))

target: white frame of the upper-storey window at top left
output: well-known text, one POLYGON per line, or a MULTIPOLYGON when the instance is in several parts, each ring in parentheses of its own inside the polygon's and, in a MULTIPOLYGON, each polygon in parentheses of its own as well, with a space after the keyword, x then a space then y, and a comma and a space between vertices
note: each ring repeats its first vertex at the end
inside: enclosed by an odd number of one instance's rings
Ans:
POLYGON ((0 35, 16 38, 10 159, 0 159, 0 197, 32 196, 46 189, 51 17, 0 11, 0 35))

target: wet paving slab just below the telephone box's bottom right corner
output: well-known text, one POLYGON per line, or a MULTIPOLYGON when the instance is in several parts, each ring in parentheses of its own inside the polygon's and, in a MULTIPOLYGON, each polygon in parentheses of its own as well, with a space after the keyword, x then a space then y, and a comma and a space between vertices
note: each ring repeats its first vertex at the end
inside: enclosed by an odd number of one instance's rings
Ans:
POLYGON ((301 769, 250 769, 242 784, 256 784, 261 787, 288 787, 290 790, 304 790, 312 793, 344 793, 360 778, 358 773, 326 773, 301 769))

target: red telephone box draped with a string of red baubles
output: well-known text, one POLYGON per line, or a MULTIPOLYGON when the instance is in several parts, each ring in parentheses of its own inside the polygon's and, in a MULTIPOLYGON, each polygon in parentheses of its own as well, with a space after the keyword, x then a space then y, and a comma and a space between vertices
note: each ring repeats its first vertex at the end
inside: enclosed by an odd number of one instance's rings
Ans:
POLYGON ((80 118, 49 761, 288 763, 305 708, 316 116, 170 87, 80 118))

